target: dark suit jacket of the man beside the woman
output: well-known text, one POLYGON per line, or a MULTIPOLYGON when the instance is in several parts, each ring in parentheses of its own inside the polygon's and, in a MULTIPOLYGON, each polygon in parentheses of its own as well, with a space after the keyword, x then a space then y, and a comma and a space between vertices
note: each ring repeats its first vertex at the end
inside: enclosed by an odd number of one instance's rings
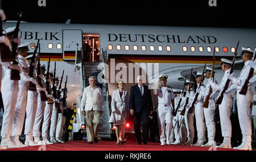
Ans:
POLYGON ((141 96, 141 90, 139 86, 134 85, 131 87, 130 98, 129 98, 129 109, 133 109, 135 113, 150 113, 153 110, 152 98, 148 86, 143 85, 144 92, 141 96))

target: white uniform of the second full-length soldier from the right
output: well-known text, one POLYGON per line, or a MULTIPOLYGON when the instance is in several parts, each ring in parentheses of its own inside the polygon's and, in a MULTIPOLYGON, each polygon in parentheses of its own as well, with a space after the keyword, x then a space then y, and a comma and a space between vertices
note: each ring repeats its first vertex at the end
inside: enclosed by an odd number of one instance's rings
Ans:
MULTIPOLYGON (((213 84, 212 88, 214 90, 213 94, 217 94, 221 92, 221 90, 225 87, 226 81, 228 80, 228 74, 230 73, 230 69, 224 72, 224 76, 222 77, 220 85, 213 84)), ((232 81, 229 82, 228 87, 232 84, 232 81)), ((219 146, 222 148, 232 148, 231 147, 231 134, 232 134, 232 125, 230 121, 230 114, 232 109, 233 101, 232 95, 229 93, 225 93, 222 99, 222 102, 219 106, 220 111, 220 123, 221 123, 221 134, 224 137, 223 143, 219 146)))

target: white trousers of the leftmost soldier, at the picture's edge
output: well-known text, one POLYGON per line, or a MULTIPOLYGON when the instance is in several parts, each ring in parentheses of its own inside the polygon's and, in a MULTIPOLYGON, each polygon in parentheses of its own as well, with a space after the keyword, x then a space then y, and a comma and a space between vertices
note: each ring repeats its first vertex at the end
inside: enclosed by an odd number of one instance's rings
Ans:
POLYGON ((3 113, 3 122, 1 135, 10 139, 11 131, 13 129, 13 122, 15 116, 15 105, 18 97, 18 81, 11 80, 10 74, 5 73, 2 80, 2 99, 5 113, 3 113))

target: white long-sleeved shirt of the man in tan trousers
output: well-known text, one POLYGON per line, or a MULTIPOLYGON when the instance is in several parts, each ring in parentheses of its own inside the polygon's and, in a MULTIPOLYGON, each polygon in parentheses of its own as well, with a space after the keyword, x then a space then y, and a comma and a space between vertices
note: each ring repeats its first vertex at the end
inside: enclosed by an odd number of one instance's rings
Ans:
POLYGON ((81 99, 81 110, 103 111, 104 100, 101 88, 95 86, 92 88, 90 85, 84 89, 81 99))

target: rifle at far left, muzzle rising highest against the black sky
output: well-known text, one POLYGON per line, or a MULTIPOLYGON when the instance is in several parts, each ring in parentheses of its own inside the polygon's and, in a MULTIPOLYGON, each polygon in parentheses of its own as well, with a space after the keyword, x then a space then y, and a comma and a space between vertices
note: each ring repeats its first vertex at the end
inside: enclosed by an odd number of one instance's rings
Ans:
MULTIPOLYGON (((20 18, 21 17, 22 17, 22 12, 18 14, 18 20, 17 20, 16 27, 15 27, 15 30, 14 30, 13 39, 18 38, 19 23, 20 23, 20 18)), ((11 51, 13 51, 12 55, 14 57, 13 65, 18 65, 18 62, 15 60, 16 55, 17 55, 17 53, 16 53, 17 48, 18 48, 18 44, 15 43, 14 41, 12 41, 11 42, 11 51)), ((11 69, 11 80, 20 80, 19 70, 11 69)))

